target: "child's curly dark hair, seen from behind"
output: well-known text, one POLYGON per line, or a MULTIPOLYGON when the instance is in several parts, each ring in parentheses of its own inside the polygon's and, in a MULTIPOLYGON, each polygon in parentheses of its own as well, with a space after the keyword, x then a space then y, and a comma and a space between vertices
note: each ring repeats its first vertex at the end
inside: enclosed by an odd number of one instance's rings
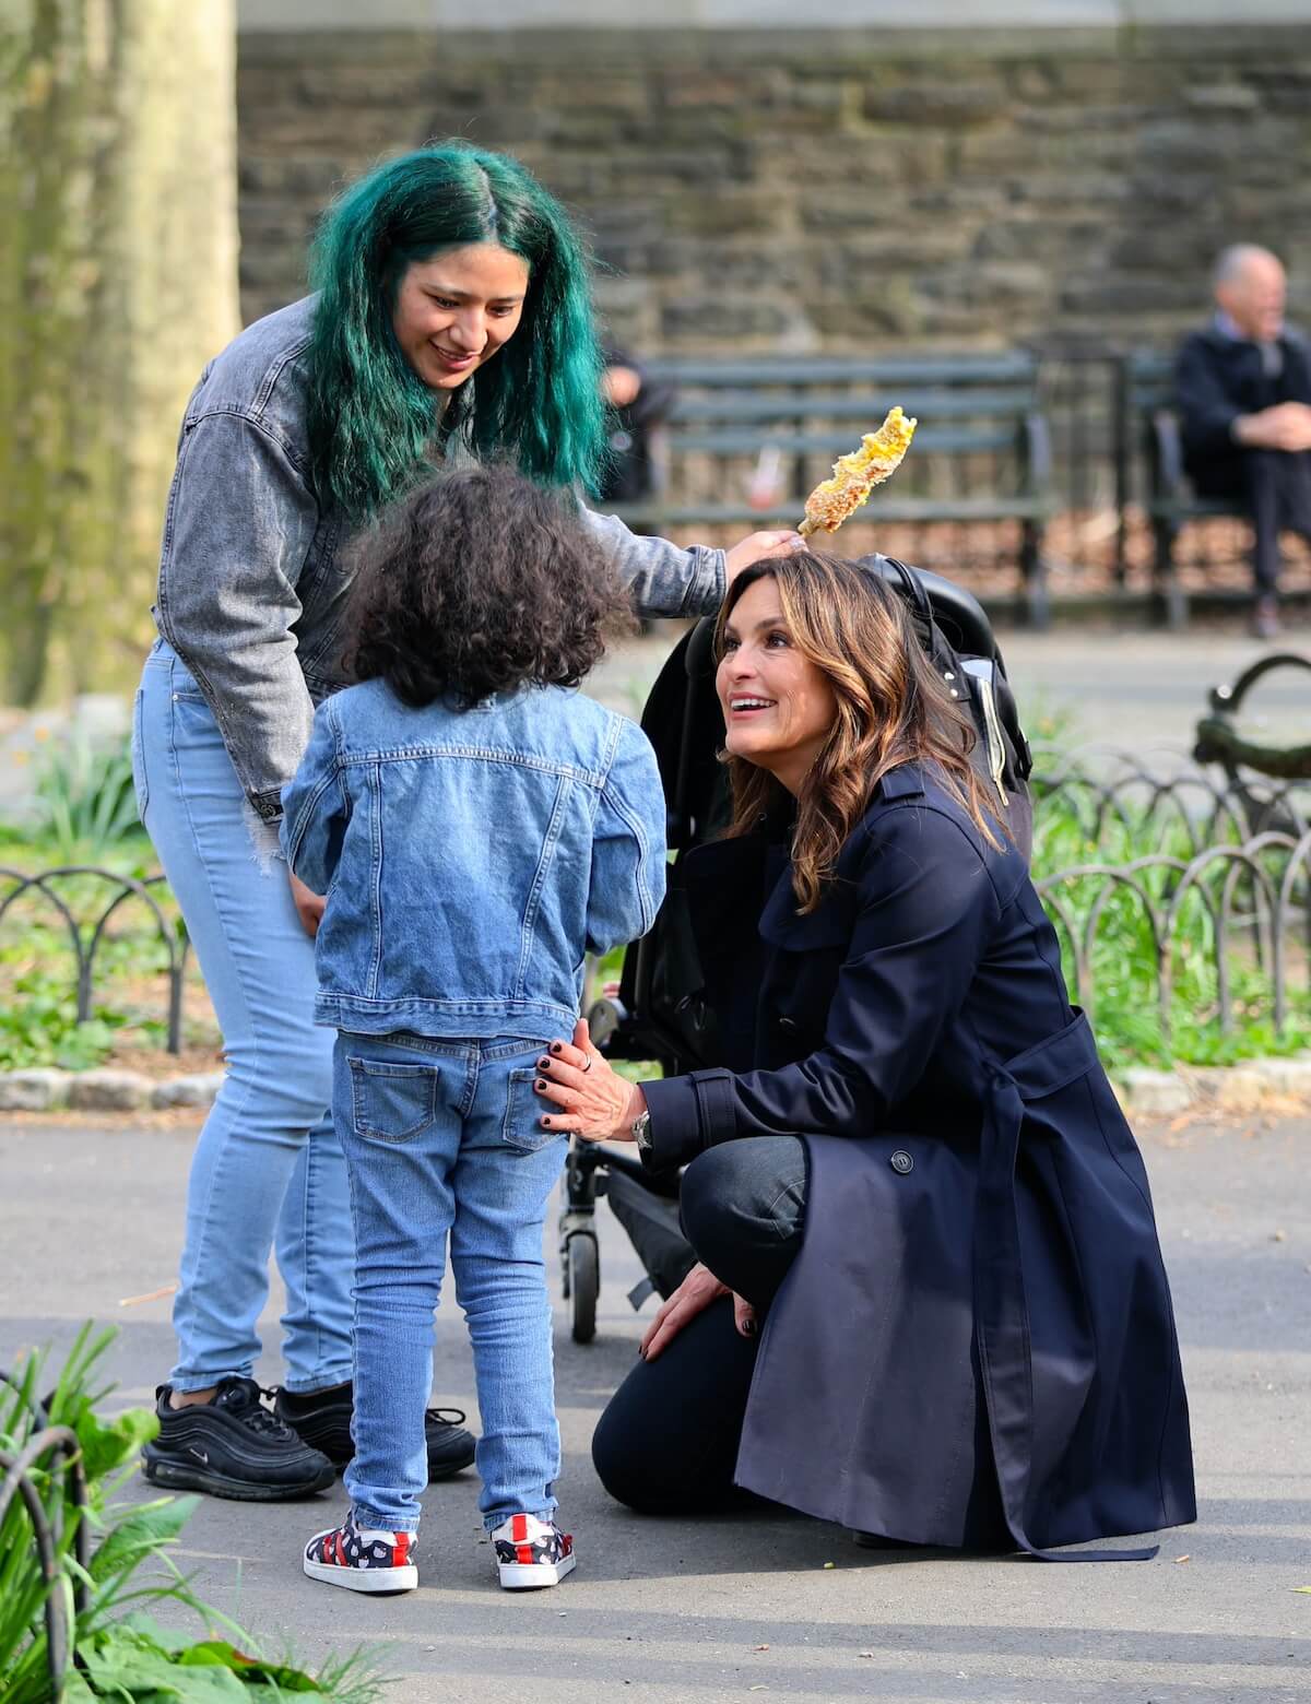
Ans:
POLYGON ((440 474, 353 556, 346 673, 385 680, 414 709, 576 687, 607 637, 632 629, 627 590, 576 503, 506 467, 440 474))

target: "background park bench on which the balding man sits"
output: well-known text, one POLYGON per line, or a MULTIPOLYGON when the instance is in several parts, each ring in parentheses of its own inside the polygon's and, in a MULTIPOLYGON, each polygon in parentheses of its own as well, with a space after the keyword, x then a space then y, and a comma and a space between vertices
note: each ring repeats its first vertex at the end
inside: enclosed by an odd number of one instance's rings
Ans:
MULTIPOLYGON (((1141 445, 1144 509, 1152 532, 1152 581, 1164 607, 1166 625, 1188 625, 1188 595, 1178 578, 1180 533, 1190 521, 1246 516, 1238 499, 1198 498, 1183 472, 1183 438, 1175 414, 1175 356, 1135 349, 1123 363, 1122 441, 1141 445)), ((1120 515, 1129 504, 1122 481, 1120 515)))

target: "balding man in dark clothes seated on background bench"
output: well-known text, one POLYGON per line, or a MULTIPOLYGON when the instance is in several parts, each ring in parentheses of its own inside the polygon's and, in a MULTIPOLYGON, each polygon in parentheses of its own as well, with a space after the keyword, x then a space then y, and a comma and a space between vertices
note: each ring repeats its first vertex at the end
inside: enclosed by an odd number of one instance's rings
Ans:
POLYGON ((1256 530, 1255 632, 1279 632, 1279 535, 1311 542, 1311 351, 1284 324, 1284 268, 1236 244, 1216 264, 1216 319, 1180 349, 1183 463, 1202 498, 1241 498, 1256 530))

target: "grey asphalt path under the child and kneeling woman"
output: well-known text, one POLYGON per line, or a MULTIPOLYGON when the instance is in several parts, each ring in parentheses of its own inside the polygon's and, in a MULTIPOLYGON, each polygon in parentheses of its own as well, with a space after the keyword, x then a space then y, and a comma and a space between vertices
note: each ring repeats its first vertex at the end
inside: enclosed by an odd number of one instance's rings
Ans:
MULTIPOLYGON (((150 1402, 170 1360, 169 1302, 194 1130, 159 1123, 0 1125, 0 1363, 118 1324, 116 1402, 150 1402)), ((638 1264, 604 1210, 597 1341, 557 1309, 566 1467, 561 1517, 578 1571, 501 1593, 471 1472, 428 1493, 421 1588, 368 1600, 303 1578, 298 1551, 344 1508, 201 1501, 181 1561, 213 1603, 314 1660, 377 1643, 413 1704, 1193 1704, 1311 1699, 1311 1120, 1144 1126, 1193 1411, 1198 1523, 1152 1563, 1060 1568, 875 1551, 835 1527, 759 1513, 638 1518, 597 1484, 588 1440, 631 1365, 638 1264)), ((554 1249, 547 1263, 559 1287, 554 1249)), ((276 1309, 259 1375, 278 1379, 276 1309)), ((852 1353, 858 1353, 852 1343, 852 1353)), ((450 1307, 436 1397, 476 1421, 450 1307)), ((141 1493, 131 1493, 141 1494, 141 1493)))

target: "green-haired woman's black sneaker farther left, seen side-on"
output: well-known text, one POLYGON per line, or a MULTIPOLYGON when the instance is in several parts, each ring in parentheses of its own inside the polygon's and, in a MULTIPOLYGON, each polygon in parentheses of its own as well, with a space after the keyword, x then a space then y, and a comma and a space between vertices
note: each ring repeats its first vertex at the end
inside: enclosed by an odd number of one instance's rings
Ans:
POLYGON ((240 1503, 278 1503, 326 1491, 336 1469, 271 1414, 254 1379, 220 1379, 208 1402, 169 1408, 155 1392, 159 1436, 141 1450, 145 1476, 170 1491, 208 1491, 240 1503))

